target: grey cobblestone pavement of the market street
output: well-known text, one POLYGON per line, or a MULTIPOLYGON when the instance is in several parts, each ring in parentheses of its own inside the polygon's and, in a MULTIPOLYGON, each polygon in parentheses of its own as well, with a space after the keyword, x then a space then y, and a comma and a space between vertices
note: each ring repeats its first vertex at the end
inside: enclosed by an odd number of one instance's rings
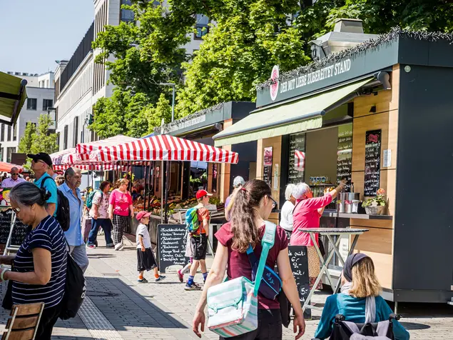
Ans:
MULTIPOLYGON (((184 291, 174 271, 167 272, 162 283, 138 284, 136 279, 136 249, 126 247, 114 251, 102 247, 87 249, 90 266, 86 272, 88 299, 79 315, 68 321, 58 320, 52 339, 198 339, 190 329, 193 310, 200 291, 184 291)), ((209 263, 210 261, 208 261, 209 263)), ((195 281, 202 281, 197 274, 195 281)), ((2 295, 6 285, 1 284, 2 295)), ((315 302, 322 306, 325 294, 316 294, 315 302)), ((453 339, 453 307, 430 304, 402 304, 402 322, 411 339, 453 339)), ((313 311, 307 321, 309 340, 315 333, 320 313, 313 311)), ((0 331, 3 331, 7 311, 0 311, 0 331)), ((284 329, 283 339, 294 339, 290 329, 284 329)), ((218 339, 207 331, 203 339, 218 339)))

